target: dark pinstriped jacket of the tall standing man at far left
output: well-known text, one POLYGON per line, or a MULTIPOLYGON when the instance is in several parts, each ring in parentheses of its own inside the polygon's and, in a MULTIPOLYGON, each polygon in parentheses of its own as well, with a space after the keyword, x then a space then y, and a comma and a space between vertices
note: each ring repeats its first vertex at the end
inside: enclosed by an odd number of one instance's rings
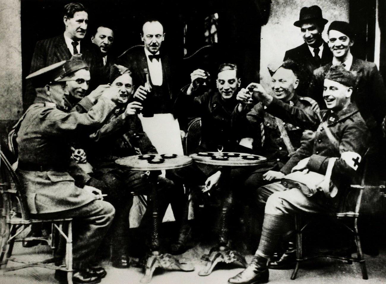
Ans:
MULTIPOLYGON (((95 65, 96 52, 95 48, 85 41, 81 41, 80 53, 83 54, 83 58, 90 65, 91 80, 92 73, 95 65)), ((68 60, 71 58, 71 52, 66 46, 64 41, 64 35, 58 35, 51 39, 44 39, 38 41, 35 46, 34 54, 32 56, 30 73, 33 73, 41 68, 49 66, 51 64, 68 60)), ((36 93, 30 82, 27 82, 24 105, 29 106, 35 99, 36 93)))

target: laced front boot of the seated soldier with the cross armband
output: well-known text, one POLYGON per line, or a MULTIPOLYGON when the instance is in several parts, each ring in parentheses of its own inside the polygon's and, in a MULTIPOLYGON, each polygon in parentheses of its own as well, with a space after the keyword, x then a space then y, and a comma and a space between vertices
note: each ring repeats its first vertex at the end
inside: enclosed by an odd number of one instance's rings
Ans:
POLYGON ((254 257, 251 264, 236 276, 229 278, 230 284, 263 284, 269 279, 267 259, 254 257))

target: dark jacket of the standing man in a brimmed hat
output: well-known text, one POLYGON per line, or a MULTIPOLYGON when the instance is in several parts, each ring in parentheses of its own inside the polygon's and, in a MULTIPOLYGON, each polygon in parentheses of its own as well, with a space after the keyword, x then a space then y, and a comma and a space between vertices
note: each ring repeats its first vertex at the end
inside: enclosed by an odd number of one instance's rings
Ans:
POLYGON ((297 91, 300 96, 307 96, 307 90, 312 79, 313 71, 320 66, 324 66, 328 62, 331 62, 332 52, 330 51, 327 42, 323 41, 322 58, 320 60, 320 65, 318 65, 315 63, 315 59, 313 58, 313 54, 308 48, 308 44, 303 43, 298 47, 286 51, 283 60, 286 61, 287 59, 291 59, 303 67, 302 74, 300 75, 301 78, 299 78, 300 83, 297 91))

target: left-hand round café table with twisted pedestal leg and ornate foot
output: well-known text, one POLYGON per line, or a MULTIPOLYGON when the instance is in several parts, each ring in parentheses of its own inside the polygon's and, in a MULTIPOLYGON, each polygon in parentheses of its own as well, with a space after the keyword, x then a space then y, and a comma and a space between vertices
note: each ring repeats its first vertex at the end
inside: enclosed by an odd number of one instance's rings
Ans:
POLYGON ((141 279, 141 283, 149 283, 153 276, 154 270, 157 267, 167 270, 183 270, 193 271, 194 267, 191 264, 180 263, 173 255, 161 254, 159 252, 159 237, 158 237, 158 211, 157 211, 157 183, 158 172, 167 169, 177 169, 186 167, 193 163, 192 159, 182 155, 150 155, 152 159, 145 159, 149 155, 137 155, 117 159, 115 161, 119 166, 131 169, 133 171, 149 171, 148 179, 154 184, 151 188, 151 193, 147 196, 148 209, 152 210, 152 233, 151 233, 151 254, 148 256, 145 266, 145 276, 141 279), (141 159, 142 158, 142 159, 141 159), (161 163, 157 159, 164 159, 161 163), (150 161, 150 162, 149 162, 150 161))

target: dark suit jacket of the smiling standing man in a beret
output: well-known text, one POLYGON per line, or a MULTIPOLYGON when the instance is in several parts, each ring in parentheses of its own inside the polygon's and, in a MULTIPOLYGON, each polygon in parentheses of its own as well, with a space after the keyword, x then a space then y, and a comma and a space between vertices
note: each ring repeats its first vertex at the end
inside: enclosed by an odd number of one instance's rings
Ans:
MULTIPOLYGON (((308 96, 316 100, 322 109, 326 108, 323 100, 323 83, 332 61, 314 71, 308 89, 308 96)), ((367 126, 372 129, 381 125, 386 115, 386 90, 377 66, 358 58, 352 59, 350 71, 357 72, 357 81, 351 101, 356 103, 367 126)))

